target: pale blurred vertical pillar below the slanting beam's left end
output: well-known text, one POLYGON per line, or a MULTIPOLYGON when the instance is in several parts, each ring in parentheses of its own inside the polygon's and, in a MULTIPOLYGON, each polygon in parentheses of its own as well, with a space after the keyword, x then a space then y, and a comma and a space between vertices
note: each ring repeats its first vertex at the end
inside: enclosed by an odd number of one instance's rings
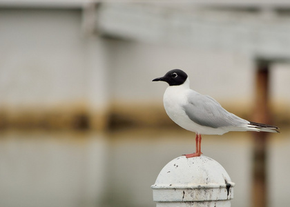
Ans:
POLYGON ((101 37, 87 37, 86 67, 88 77, 88 113, 90 127, 105 130, 108 125, 110 91, 106 64, 106 42, 101 37))

